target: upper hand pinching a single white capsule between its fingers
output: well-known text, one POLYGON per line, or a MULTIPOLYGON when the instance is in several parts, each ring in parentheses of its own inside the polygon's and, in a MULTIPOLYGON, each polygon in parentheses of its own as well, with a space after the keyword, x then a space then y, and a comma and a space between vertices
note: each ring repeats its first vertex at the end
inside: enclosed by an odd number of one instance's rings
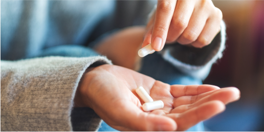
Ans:
POLYGON ((221 10, 211 0, 158 0, 142 47, 151 43, 155 51, 160 51, 167 40, 167 43, 178 41, 202 48, 220 31, 222 17, 221 10))

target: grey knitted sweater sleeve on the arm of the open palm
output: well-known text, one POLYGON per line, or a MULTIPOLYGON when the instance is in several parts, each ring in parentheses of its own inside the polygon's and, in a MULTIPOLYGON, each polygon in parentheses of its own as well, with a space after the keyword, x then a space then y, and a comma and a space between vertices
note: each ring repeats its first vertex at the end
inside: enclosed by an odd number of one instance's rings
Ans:
MULTIPOLYGON (((73 131, 75 91, 95 63, 111 61, 102 56, 0 61, 0 131, 73 131)), ((96 131, 101 119, 92 109, 85 114, 91 123, 86 130, 96 131)))

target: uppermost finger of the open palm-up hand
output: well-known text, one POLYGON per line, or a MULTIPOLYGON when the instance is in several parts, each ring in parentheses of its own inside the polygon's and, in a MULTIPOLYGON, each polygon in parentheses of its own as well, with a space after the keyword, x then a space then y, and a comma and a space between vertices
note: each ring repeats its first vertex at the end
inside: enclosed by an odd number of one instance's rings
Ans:
POLYGON ((171 85, 170 93, 174 98, 178 98, 181 96, 199 95, 219 89, 218 86, 214 85, 171 85))

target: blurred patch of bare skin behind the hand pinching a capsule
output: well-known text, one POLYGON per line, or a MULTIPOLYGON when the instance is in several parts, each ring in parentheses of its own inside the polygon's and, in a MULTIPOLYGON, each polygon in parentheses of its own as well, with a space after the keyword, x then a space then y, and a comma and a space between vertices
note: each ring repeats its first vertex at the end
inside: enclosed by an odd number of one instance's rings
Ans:
POLYGON ((114 64, 137 71, 141 60, 138 50, 145 31, 143 26, 122 29, 99 42, 95 50, 107 56, 114 64))

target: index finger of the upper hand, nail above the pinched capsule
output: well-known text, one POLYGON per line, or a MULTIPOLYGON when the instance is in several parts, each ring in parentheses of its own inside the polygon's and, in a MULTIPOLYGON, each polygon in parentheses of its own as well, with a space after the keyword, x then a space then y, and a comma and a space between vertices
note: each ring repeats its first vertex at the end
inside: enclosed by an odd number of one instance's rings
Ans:
POLYGON ((155 51, 160 51, 164 47, 176 3, 175 0, 158 1, 151 35, 151 47, 155 51))

